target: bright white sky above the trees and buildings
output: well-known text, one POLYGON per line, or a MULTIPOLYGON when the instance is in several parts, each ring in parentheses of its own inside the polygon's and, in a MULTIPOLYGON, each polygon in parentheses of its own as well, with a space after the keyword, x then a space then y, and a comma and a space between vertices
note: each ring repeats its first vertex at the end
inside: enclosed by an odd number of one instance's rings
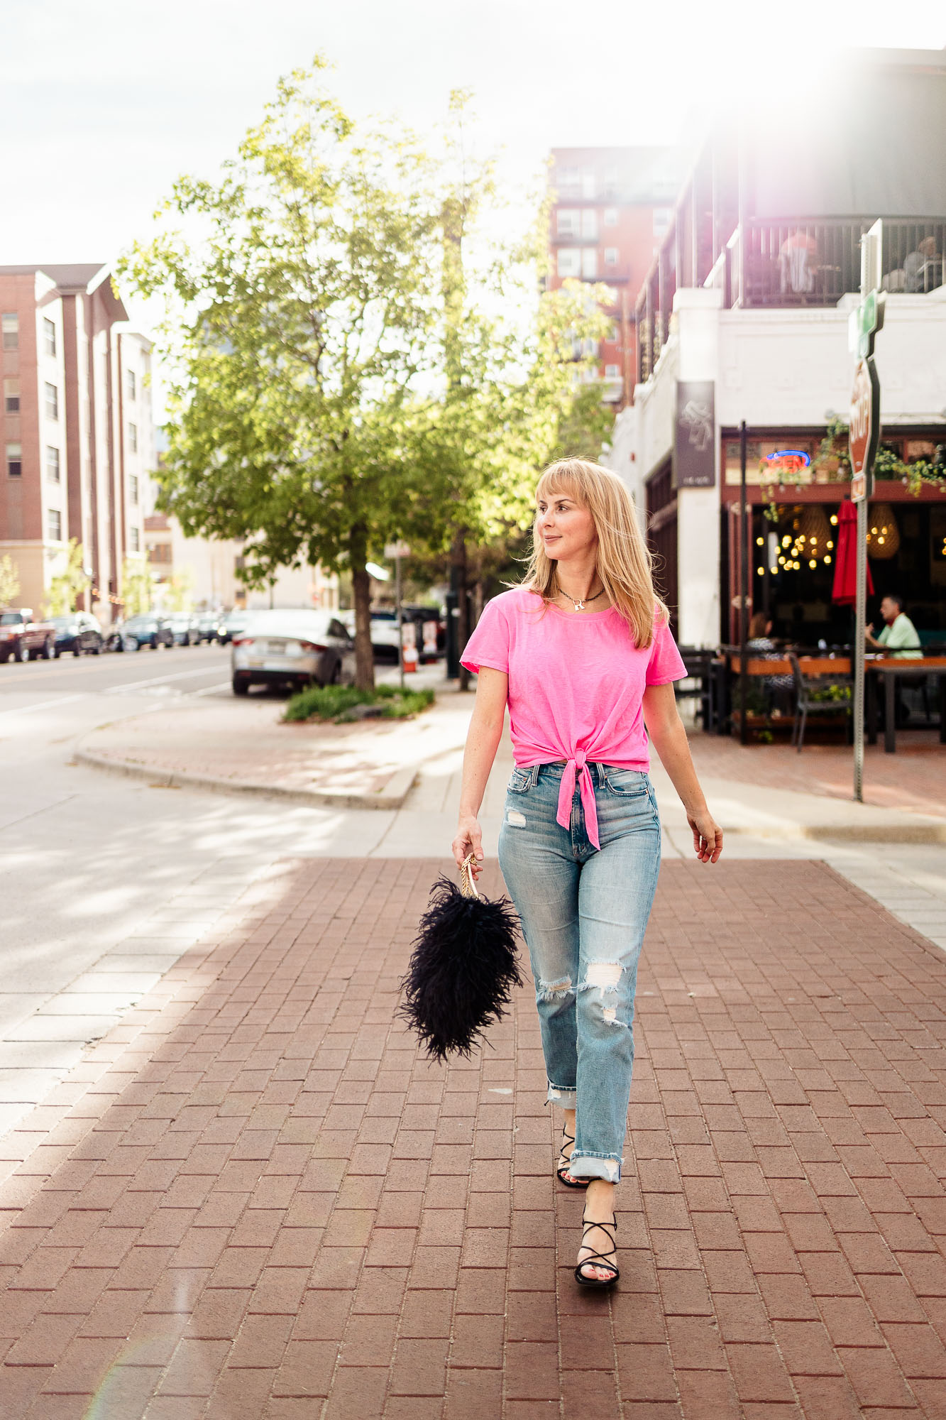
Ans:
MULTIPOLYGON (((553 146, 676 141, 720 97, 791 112, 812 58, 946 45, 943 0, 1 0, 0 264, 115 260, 182 172, 213 178, 321 51, 352 116, 420 132, 474 94, 526 190, 553 146)), ((842 57, 828 61, 842 64, 842 57)), ((148 311, 126 301, 132 320, 148 311)))

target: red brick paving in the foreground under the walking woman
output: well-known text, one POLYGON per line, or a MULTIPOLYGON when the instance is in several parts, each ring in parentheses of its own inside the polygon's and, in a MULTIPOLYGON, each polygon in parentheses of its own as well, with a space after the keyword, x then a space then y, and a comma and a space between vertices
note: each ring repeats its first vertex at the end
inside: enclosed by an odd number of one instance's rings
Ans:
POLYGON ((392 1024, 440 866, 283 865, 7 1137, 4 1420, 946 1416, 942 954, 665 863, 588 1295, 530 993, 449 1069, 392 1024))

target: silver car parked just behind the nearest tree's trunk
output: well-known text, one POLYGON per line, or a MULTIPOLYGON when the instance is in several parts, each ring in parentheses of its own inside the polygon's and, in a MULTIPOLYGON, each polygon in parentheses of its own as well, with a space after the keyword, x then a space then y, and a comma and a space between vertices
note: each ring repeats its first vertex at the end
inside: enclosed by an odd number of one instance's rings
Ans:
POLYGON ((250 623, 233 636, 230 652, 233 694, 246 696, 253 684, 352 684, 355 643, 334 612, 253 612, 250 623))

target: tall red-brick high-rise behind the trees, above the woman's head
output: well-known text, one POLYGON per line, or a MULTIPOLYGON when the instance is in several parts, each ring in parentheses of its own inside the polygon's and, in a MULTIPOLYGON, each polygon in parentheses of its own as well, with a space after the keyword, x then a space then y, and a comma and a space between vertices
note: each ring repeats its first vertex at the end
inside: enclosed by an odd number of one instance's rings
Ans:
POLYGON ((636 369, 634 302, 670 224, 682 178, 666 148, 553 148, 550 277, 602 281, 611 293, 611 332, 598 342, 598 376, 608 403, 631 402, 636 369))

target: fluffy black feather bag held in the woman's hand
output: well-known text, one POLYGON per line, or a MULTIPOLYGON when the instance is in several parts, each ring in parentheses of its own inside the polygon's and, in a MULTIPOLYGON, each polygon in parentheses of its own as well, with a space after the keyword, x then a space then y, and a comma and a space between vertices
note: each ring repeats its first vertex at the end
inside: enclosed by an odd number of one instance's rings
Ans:
POLYGON ((405 1000, 396 1014, 439 1061, 450 1052, 469 1058, 523 984, 516 909, 509 897, 480 897, 472 861, 470 853, 463 862, 460 888, 443 875, 435 882, 401 983, 405 1000))

